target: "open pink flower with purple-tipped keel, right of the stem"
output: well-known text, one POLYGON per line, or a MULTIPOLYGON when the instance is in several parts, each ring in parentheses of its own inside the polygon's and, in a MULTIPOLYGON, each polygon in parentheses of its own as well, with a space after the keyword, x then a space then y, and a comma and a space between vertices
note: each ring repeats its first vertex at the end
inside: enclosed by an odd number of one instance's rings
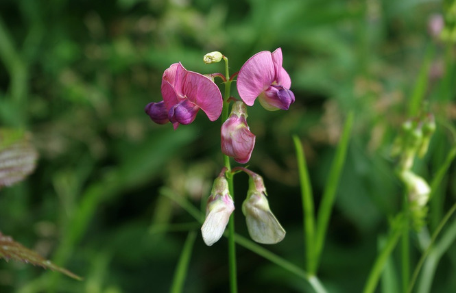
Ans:
POLYGON ((259 98, 269 111, 288 110, 295 97, 289 90, 291 79, 282 67, 282 49, 261 51, 253 55, 237 75, 237 91, 245 104, 253 105, 259 98))

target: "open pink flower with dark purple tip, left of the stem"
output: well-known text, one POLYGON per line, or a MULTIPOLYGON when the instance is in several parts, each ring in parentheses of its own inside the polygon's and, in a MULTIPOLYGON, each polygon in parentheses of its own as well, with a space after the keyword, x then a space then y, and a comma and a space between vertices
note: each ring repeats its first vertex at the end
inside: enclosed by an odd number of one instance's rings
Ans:
POLYGON ((163 73, 161 92, 163 101, 149 103, 146 114, 158 124, 187 125, 195 120, 198 110, 203 110, 209 120, 215 121, 221 114, 223 99, 214 81, 182 64, 174 63, 163 73))

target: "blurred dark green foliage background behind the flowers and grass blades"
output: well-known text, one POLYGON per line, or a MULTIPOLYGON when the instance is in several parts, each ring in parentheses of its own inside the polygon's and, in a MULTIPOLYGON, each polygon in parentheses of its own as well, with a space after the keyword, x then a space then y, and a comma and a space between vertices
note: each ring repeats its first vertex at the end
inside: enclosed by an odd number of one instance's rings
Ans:
MULTIPOLYGON (((353 111, 319 275, 330 292, 361 291, 402 203, 389 147, 417 91, 438 128, 418 173, 429 177, 450 147, 442 125, 456 116, 455 79, 444 73, 454 69, 454 47, 429 34, 435 13, 442 1, 2 0, 0 123, 32 133, 40 159, 25 181, 0 191, 0 231, 84 281, 0 260, 0 292, 168 292, 187 232, 200 226, 162 188, 204 210, 223 165, 220 123, 198 114, 173 131, 154 124, 144 107, 162 99, 161 76, 174 62, 224 72, 223 64, 202 62, 217 50, 235 73, 254 53, 277 47, 296 103, 278 112, 256 103, 248 118, 256 134, 250 168, 263 175, 287 230, 267 249, 304 264, 291 135, 302 138, 318 204, 353 111), (427 87, 420 89, 423 64, 427 87)), ((455 201, 453 173, 440 190, 448 195, 435 209, 440 217, 455 201)), ((247 177, 235 180, 236 229, 247 236, 239 205, 247 177)), ((239 292, 308 292, 305 281, 251 251, 239 247, 237 255, 239 292)), ((455 268, 453 246, 433 292, 456 288, 455 268)), ((184 292, 228 288, 226 240, 207 247, 198 234, 184 292)))

